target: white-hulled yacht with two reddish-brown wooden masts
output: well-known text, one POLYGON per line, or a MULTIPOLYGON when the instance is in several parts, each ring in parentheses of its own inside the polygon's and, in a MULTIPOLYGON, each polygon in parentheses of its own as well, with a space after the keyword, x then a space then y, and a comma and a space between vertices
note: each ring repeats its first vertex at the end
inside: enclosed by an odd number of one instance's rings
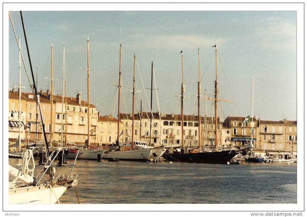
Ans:
MULTIPOLYGON (((119 85, 118 85, 118 126, 117 126, 117 144, 119 144, 119 111, 120 111, 120 89, 121 85, 121 53, 122 44, 119 46, 119 85)), ((132 132, 134 132, 134 98, 135 98, 135 54, 133 58, 133 91, 132 92, 132 132)), ((140 148, 135 149, 134 147, 134 133, 132 133, 131 147, 120 147, 113 151, 105 151, 103 159, 119 159, 119 160, 130 160, 130 161, 149 161, 152 154, 152 148, 140 148)))

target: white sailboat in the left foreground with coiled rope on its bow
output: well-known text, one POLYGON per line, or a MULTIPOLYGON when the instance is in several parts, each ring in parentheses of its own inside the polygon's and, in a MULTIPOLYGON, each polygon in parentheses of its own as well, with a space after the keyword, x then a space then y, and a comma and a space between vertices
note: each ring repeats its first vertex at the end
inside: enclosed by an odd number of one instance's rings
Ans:
MULTIPOLYGON (((33 95, 38 105, 41 124, 44 126, 43 116, 41 113, 40 100, 37 92, 37 87, 34 79, 28 42, 25 33, 25 26, 20 11, 23 32, 25 36, 25 44, 28 51, 28 58, 30 69, 32 73, 33 95)), ((16 32, 14 29, 13 21, 9 12, 11 24, 13 26, 15 38, 17 40, 16 32)), ((19 52, 21 54, 20 44, 18 43, 19 52)), ((28 72, 26 71, 27 75, 28 72)), ((26 149, 23 153, 22 166, 17 169, 9 165, 9 203, 10 204, 54 204, 60 203, 59 199, 62 194, 71 187, 76 187, 78 184, 78 175, 73 175, 72 171, 76 165, 76 159, 73 163, 68 164, 64 161, 64 152, 70 148, 58 147, 49 148, 45 128, 42 128, 44 135, 44 147, 32 147, 26 149), (39 160, 35 162, 33 152, 39 156, 39 160), (40 167, 35 170, 35 167, 40 167), (70 169, 68 169, 70 168, 70 169), (64 175, 65 170, 65 175, 64 175), (38 171, 38 174, 35 174, 38 171), (68 172, 68 174, 67 174, 68 172), (46 177, 48 176, 48 178, 46 177)))

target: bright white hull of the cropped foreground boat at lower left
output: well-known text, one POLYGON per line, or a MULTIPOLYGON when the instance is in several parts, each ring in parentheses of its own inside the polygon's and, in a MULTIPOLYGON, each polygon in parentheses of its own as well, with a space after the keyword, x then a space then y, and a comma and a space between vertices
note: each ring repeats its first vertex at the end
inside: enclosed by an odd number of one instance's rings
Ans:
POLYGON ((68 189, 67 185, 44 185, 9 189, 10 204, 55 204, 68 189))

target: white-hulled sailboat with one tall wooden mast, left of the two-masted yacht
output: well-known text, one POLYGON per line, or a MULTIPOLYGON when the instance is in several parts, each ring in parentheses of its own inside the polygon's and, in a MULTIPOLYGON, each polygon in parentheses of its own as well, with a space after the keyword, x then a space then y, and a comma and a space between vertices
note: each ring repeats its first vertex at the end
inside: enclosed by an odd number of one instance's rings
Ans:
POLYGON ((66 158, 77 159, 95 159, 100 160, 103 156, 105 148, 87 149, 90 146, 90 63, 89 63, 89 38, 87 37, 87 141, 85 144, 86 148, 77 152, 76 150, 71 150, 66 158))

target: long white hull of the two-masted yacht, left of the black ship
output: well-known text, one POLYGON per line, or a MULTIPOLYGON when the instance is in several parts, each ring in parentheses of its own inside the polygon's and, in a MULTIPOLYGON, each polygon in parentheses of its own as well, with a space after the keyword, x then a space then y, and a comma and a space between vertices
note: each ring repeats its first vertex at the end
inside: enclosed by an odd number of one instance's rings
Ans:
POLYGON ((103 159, 115 158, 119 160, 148 161, 151 155, 151 148, 128 150, 128 151, 106 151, 103 159))

